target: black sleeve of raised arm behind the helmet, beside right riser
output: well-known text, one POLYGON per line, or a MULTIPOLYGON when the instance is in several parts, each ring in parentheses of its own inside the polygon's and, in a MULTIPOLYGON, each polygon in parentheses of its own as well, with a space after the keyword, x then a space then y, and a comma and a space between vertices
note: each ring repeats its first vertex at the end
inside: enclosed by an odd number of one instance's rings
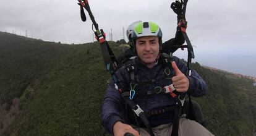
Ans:
POLYGON ((162 53, 166 53, 166 54, 174 53, 179 48, 173 45, 183 45, 184 43, 185 43, 185 38, 182 32, 177 30, 175 38, 171 38, 170 40, 162 44, 162 53))

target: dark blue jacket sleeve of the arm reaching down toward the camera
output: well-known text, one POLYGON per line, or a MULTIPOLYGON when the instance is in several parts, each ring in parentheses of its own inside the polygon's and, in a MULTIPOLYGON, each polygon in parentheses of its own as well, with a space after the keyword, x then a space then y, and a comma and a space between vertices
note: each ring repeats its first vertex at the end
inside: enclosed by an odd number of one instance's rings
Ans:
MULTIPOLYGON (((117 70, 116 76, 119 80, 122 79, 119 70, 117 70)), ((114 88, 114 83, 111 80, 106 89, 103 104, 101 105, 101 122, 109 133, 113 134, 113 125, 115 122, 124 122, 122 112, 121 95, 119 91, 114 88)))

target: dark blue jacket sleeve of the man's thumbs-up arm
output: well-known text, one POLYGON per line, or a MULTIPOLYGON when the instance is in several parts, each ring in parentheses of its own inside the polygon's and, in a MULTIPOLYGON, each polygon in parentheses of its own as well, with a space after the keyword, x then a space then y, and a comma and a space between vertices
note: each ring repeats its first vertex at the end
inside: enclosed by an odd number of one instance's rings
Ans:
MULTIPOLYGON (((186 64, 184 64, 181 59, 175 56, 174 61, 176 62, 177 67, 179 67, 179 70, 181 70, 181 72, 186 75, 186 64)), ((189 79, 189 90, 187 90, 188 95, 199 97, 207 93, 207 85, 205 81, 202 79, 202 77, 200 77, 200 75, 197 74, 195 70, 192 69, 191 75, 187 76, 187 78, 189 79)))

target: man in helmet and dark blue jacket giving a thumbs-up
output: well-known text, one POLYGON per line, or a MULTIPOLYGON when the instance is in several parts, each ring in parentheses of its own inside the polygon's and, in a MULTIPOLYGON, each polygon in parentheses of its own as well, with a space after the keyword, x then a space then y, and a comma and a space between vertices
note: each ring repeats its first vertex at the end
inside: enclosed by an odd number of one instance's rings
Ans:
MULTIPOLYGON (((184 92, 191 96, 202 96, 207 91, 207 86, 202 78, 192 70, 192 74, 187 77, 186 65, 177 57, 173 57, 171 63, 171 71, 164 64, 164 55, 160 54, 162 32, 160 27, 153 22, 140 22, 134 26, 132 33, 132 42, 134 45, 134 53, 137 57, 133 60, 135 64, 134 78, 131 81, 131 75, 126 69, 121 67, 116 72, 117 78, 127 91, 133 91, 134 94, 148 92, 157 87, 164 88, 168 85, 174 85, 177 92, 184 92), (166 74, 174 73, 170 79, 166 78, 166 74), (131 82, 134 82, 132 84, 131 82)), ((151 91, 153 92, 153 91, 151 91)), ((160 92, 160 91, 159 91, 160 92)), ((135 95, 130 99, 138 104, 145 113, 159 108, 174 106, 176 101, 169 93, 148 93, 150 95, 135 95)), ((109 83, 106 90, 105 99, 101 110, 101 118, 103 126, 115 136, 124 135, 127 132, 133 135, 149 135, 148 130, 143 127, 140 119, 134 117, 130 111, 127 111, 128 117, 124 116, 122 97, 113 85, 109 83), (129 124, 125 124, 125 120, 129 124), (139 120, 139 121, 137 121, 139 120), (139 129, 136 125, 142 126, 139 129)), ((171 135, 172 123, 174 121, 174 110, 166 111, 160 114, 151 114, 148 116, 155 135, 171 135)), ((179 135, 212 135, 202 125, 186 118, 181 118, 179 122, 179 135)))

